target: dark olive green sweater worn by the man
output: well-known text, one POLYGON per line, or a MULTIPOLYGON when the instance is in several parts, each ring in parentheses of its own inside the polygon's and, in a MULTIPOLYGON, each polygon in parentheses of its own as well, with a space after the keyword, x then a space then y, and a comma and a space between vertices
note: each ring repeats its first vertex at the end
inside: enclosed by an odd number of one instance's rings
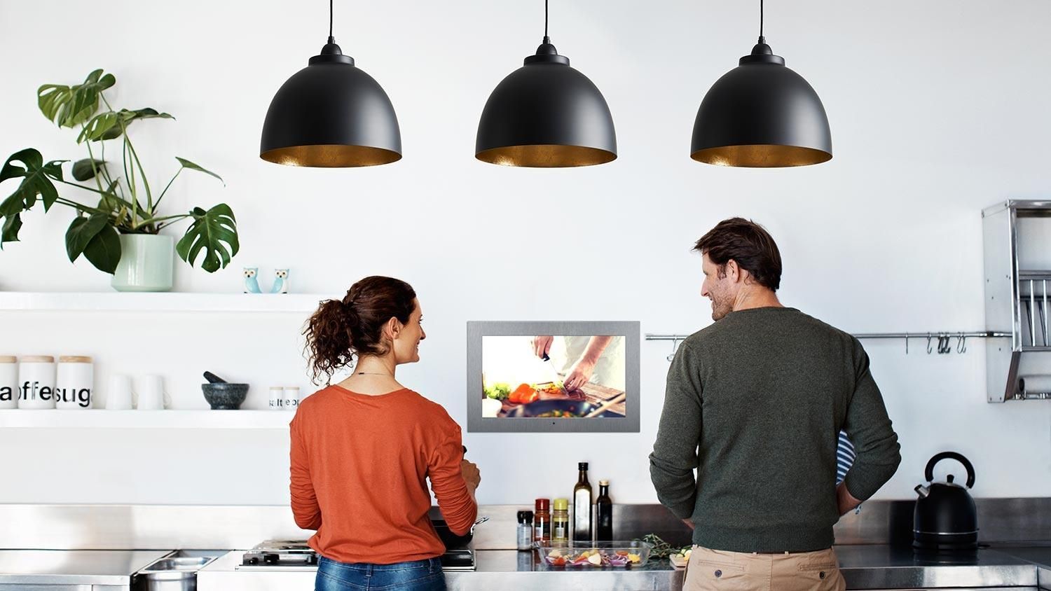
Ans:
POLYGON ((650 473, 699 546, 821 550, 840 516, 841 429, 858 455, 846 487, 864 501, 901 455, 861 343, 791 308, 731 312, 676 353, 650 473))

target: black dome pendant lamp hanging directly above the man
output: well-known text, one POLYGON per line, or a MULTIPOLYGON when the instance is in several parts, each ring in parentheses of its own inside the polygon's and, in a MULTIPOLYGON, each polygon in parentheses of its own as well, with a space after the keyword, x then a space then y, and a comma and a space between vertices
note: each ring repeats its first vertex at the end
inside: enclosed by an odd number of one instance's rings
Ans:
POLYGON ((832 157, 825 107, 802 76, 785 67, 763 37, 740 65, 716 81, 694 122, 689 157, 707 164, 782 167, 832 157))

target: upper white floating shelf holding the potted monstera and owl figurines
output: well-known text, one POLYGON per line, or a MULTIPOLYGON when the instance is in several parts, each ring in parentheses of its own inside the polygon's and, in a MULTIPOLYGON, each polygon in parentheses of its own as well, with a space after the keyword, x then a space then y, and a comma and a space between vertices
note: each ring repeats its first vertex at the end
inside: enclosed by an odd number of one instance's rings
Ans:
POLYGON ((0 292, 0 311, 289 312, 309 314, 324 294, 0 292))

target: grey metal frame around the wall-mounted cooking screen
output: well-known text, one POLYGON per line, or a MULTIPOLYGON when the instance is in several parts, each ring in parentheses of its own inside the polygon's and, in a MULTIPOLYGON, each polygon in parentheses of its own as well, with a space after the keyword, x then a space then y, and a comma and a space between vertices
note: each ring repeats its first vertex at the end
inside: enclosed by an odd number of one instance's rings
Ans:
POLYGON ((467 323, 467 430, 470 432, 639 432, 638 321, 471 321, 467 323), (481 343, 486 336, 623 336, 623 419, 508 419, 481 416, 481 343))

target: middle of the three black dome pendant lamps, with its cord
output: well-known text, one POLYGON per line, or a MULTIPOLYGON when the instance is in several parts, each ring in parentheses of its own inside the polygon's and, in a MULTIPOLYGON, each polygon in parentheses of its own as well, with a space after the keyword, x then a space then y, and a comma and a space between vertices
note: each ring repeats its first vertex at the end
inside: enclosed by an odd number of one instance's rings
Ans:
POLYGON ((482 162, 536 168, 591 166, 617 157, 610 106, 551 44, 547 0, 543 43, 490 94, 474 151, 482 162))

